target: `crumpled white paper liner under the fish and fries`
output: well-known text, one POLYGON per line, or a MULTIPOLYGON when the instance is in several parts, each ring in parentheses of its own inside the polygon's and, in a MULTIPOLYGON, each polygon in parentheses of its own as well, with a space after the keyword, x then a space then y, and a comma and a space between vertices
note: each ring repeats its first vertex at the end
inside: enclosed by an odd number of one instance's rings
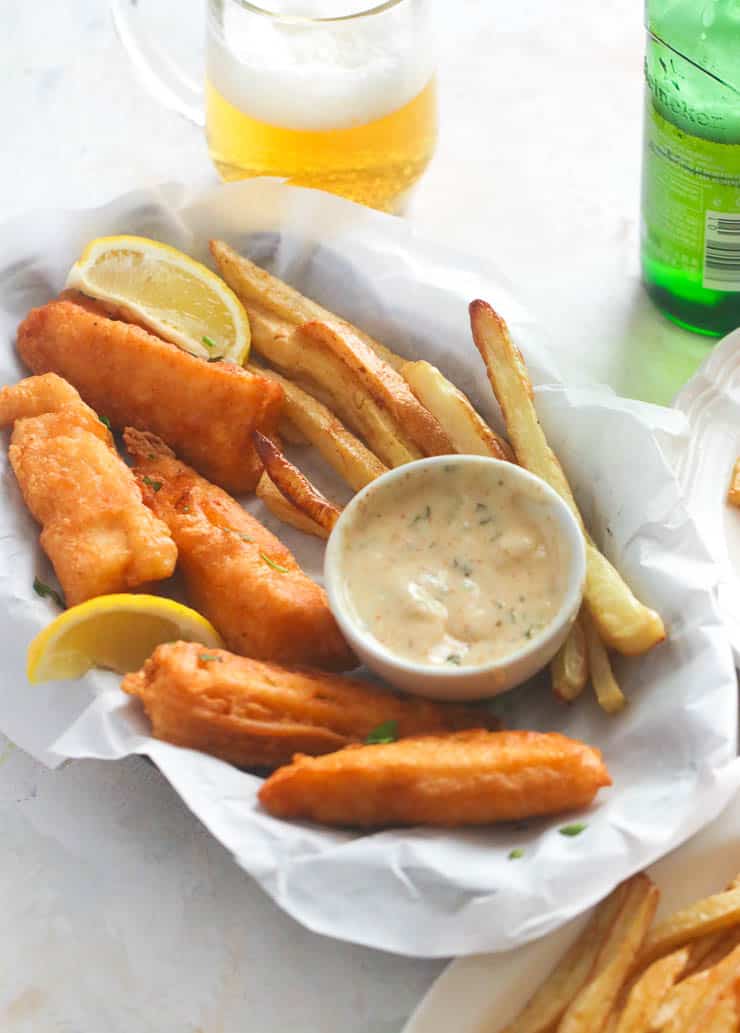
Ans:
MULTIPOLYGON (((571 708, 555 703, 544 679, 498 702, 510 726, 559 729, 604 751, 614 787, 588 813, 526 827, 365 836, 278 821, 256 803, 254 776, 150 739, 138 703, 123 696, 114 676, 27 684, 28 643, 55 614, 53 603, 33 594, 33 576, 53 581, 53 574, 3 448, 0 727, 7 735, 49 764, 148 754, 282 908, 317 932, 406 954, 503 950, 542 936, 719 812, 740 778, 736 682, 712 597, 716 571, 666 460, 685 443, 681 414, 607 388, 562 387, 539 332, 497 273, 391 216, 275 181, 233 184, 194 198, 168 186, 95 211, 35 213, 6 224, 0 238, 4 382, 23 374, 12 341, 26 311, 62 287, 89 239, 124 231, 156 237, 203 259, 208 239, 223 237, 395 350, 439 365, 497 421, 467 319, 472 298, 491 301, 523 348, 542 421, 594 535, 662 614, 670 635, 646 657, 617 661, 630 705, 616 718, 588 696, 571 708), (583 820, 587 828, 563 837, 558 828, 565 820, 583 820), (513 847, 524 849, 516 863, 508 859, 513 847)), ((330 491, 337 489, 306 449, 300 462, 330 491)), ((254 501, 249 508, 320 576, 318 542, 278 524, 254 501)))

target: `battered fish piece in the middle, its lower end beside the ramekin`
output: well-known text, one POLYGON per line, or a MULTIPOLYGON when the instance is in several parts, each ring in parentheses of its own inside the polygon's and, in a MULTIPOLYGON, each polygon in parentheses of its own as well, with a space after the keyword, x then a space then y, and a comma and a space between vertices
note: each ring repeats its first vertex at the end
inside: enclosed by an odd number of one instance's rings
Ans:
POLYGON ((322 588, 229 495, 153 434, 124 433, 144 499, 169 528, 191 604, 235 653, 345 670, 358 664, 322 588))

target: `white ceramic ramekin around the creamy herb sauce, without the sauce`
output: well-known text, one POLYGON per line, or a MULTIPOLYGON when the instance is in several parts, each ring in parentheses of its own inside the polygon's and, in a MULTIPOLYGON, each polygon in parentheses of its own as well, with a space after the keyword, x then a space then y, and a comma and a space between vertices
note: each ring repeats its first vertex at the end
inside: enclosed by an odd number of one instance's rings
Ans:
MULTIPOLYGON (((391 685, 406 692, 433 699, 485 699, 520 685, 544 667, 557 653, 578 614, 586 577, 586 550, 583 535, 573 513, 560 496, 539 477, 513 463, 504 463, 484 456, 455 456, 456 464, 473 465, 476 477, 504 480, 512 492, 526 491, 531 500, 530 515, 549 524, 558 535, 556 552, 561 557, 565 572, 565 591, 562 604, 549 624, 525 646, 480 666, 442 666, 414 663, 392 653, 363 627, 354 614, 343 578, 342 558, 347 531, 357 519, 363 500, 376 493, 393 492, 399 477, 414 476, 424 470, 425 479, 430 468, 449 465, 450 456, 435 456, 390 470, 371 481, 345 507, 334 527, 327 545, 323 572, 329 601, 334 616, 347 641, 371 670, 391 685)), ((428 482, 428 481, 427 481, 428 482)), ((423 498, 420 494, 420 499, 423 498)))

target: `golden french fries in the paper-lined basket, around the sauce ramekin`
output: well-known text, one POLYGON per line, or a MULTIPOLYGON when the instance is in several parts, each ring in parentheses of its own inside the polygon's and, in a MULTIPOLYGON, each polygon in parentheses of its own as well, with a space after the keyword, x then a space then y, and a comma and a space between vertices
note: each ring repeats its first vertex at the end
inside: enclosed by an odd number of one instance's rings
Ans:
MULTIPOLYGON (((309 443, 353 490, 424 456, 479 455, 519 463, 546 480, 579 522, 587 555, 584 604, 551 665, 555 694, 576 699, 589 677, 599 705, 625 703, 609 650, 647 652, 665 638, 660 617, 640 602, 591 540, 534 408, 527 368, 506 324, 486 302, 470 306, 473 341, 486 364, 508 440, 427 362, 406 362, 220 241, 211 251, 249 315, 255 369, 285 392, 282 437, 309 443)), ((256 442, 265 464, 257 495, 280 520, 329 536, 340 510, 282 455, 256 442)))

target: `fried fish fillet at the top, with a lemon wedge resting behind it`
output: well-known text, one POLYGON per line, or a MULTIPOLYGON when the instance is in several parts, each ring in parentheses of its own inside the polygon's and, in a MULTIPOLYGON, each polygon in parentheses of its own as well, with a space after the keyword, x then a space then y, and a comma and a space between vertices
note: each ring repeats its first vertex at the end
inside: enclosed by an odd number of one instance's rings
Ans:
POLYGON ((228 491, 255 487, 261 464, 252 433, 275 432, 275 381, 196 358, 75 292, 29 312, 18 350, 34 373, 67 379, 114 428, 153 431, 228 491))

